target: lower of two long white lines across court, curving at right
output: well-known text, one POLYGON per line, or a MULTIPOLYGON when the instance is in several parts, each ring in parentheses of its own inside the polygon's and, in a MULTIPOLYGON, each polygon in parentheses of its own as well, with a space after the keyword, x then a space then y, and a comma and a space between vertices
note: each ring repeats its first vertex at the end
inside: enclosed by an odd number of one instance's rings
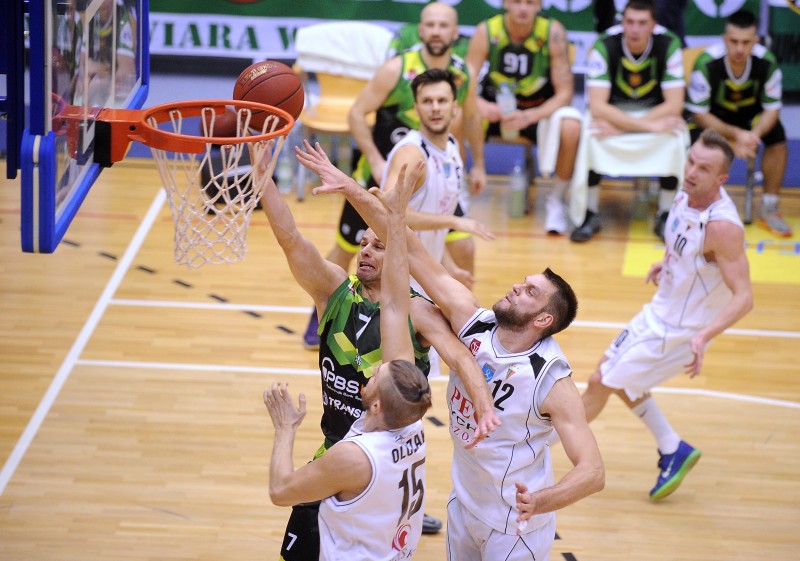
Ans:
MULTIPOLYGON (((202 372, 235 372, 240 374, 288 374, 292 376, 319 376, 319 370, 314 368, 273 368, 268 366, 230 366, 227 364, 192 364, 179 362, 143 362, 143 361, 124 361, 124 360, 90 360, 80 359, 76 362, 78 366, 93 366, 103 368, 142 368, 147 370, 199 370, 202 372)), ((446 376, 435 376, 431 378, 433 382, 446 382, 446 376)), ((585 382, 576 382, 580 389, 586 387, 585 382)), ((800 409, 800 403, 785 399, 773 399, 769 397, 758 397, 752 395, 742 395, 730 392, 720 392, 715 390, 704 390, 694 388, 653 388, 652 393, 695 395, 703 397, 715 397, 730 401, 744 401, 759 405, 773 405, 788 409, 800 409)))

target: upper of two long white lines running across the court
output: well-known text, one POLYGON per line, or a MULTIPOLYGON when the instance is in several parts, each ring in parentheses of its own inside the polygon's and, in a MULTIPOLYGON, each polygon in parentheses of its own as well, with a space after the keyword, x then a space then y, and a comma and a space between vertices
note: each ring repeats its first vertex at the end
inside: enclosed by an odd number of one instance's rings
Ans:
MULTIPOLYGON (((231 304, 231 303, 211 303, 211 302, 174 302, 170 300, 135 300, 135 299, 113 299, 110 302, 115 306, 139 306, 143 308, 184 308, 196 310, 221 310, 221 311, 245 311, 245 312, 264 312, 264 313, 284 313, 308 315, 310 306, 267 306, 262 304, 231 304)), ((590 329, 623 329, 627 324, 611 321, 581 321, 575 320, 571 326, 588 327, 590 329)), ((785 339, 800 339, 800 331, 780 331, 771 329, 726 329, 726 335, 737 335, 745 337, 774 337, 785 339)))

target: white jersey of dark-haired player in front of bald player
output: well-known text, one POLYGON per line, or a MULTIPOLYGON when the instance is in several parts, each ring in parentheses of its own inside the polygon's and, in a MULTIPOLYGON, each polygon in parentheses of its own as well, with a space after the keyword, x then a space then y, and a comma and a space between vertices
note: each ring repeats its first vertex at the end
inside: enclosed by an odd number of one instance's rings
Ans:
MULTIPOLYGON (((416 146, 425 157, 427 170, 425 183, 417 189, 408 202, 408 208, 428 214, 451 215, 456 210, 461 191, 461 177, 464 173, 464 163, 458 149, 458 142, 453 136, 447 141, 447 146, 441 150, 432 144, 419 131, 412 130, 389 152, 383 172, 381 185, 386 184, 389 162, 395 151, 407 145, 416 146)), ((447 228, 439 230, 418 230, 417 237, 437 262, 441 262, 444 255, 444 238, 447 228)), ((413 280, 413 279, 412 279, 413 280)), ((420 294, 425 294, 416 281, 411 286, 420 294)))

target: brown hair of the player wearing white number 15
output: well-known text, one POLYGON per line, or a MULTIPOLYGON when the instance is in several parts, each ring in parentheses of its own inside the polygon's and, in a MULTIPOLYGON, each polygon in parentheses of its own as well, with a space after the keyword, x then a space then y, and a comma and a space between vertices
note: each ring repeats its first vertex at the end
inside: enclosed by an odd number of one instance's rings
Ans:
POLYGON ((378 386, 383 421, 389 429, 399 429, 422 418, 431 406, 431 387, 416 365, 407 360, 391 360, 389 370, 378 386))

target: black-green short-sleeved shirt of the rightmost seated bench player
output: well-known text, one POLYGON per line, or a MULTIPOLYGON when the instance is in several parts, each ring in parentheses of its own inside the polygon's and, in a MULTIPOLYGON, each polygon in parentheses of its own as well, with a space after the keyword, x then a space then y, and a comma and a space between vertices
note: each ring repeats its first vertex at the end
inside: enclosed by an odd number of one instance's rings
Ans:
POLYGON ((724 43, 712 45, 695 62, 689 80, 686 108, 708 113, 723 122, 743 126, 765 109, 781 108, 781 71, 778 61, 763 45, 753 47, 741 76, 735 76, 726 59, 724 43))

